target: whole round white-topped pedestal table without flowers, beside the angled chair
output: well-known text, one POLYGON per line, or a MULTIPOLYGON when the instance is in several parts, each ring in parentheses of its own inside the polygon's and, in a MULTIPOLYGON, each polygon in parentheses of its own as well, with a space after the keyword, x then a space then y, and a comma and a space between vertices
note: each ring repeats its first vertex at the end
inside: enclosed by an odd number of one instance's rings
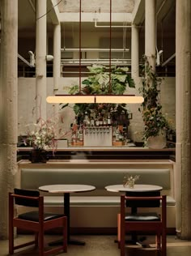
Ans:
MULTIPOLYGON (((40 186, 40 191, 49 193, 62 193, 64 194, 64 213, 67 216, 67 235, 68 243, 73 245, 85 245, 83 241, 70 240, 70 193, 79 193, 96 190, 95 186, 81 185, 81 184, 55 184, 40 186)), ((62 243, 62 241, 53 242, 51 245, 57 245, 62 243)))

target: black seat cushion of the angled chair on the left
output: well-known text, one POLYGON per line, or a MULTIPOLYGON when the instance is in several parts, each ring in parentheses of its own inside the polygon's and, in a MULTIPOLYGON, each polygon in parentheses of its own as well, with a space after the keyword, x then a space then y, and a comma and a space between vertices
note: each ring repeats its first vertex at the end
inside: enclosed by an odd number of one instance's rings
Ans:
MULTIPOLYGON (((47 220, 53 220, 60 217, 63 217, 63 214, 57 214, 57 213, 44 213, 44 221, 47 220)), ((21 220, 31 220, 35 222, 39 222, 39 212, 38 211, 28 211, 23 214, 18 215, 18 218, 21 220)))

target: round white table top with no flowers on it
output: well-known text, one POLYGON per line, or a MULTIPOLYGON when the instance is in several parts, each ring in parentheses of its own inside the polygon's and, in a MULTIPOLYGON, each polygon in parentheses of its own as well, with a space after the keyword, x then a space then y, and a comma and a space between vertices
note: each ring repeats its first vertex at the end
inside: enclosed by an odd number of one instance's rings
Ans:
POLYGON ((78 193, 78 192, 96 190, 96 187, 90 186, 90 185, 81 185, 81 184, 55 184, 55 185, 40 186, 39 190, 44 192, 49 192, 49 193, 78 193))

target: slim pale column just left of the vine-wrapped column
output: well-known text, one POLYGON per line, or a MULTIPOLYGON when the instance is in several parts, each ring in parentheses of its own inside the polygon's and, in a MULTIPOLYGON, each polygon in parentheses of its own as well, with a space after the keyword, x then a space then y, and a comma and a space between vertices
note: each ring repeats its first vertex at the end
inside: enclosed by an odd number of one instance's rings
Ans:
POLYGON ((133 24, 131 28, 131 76, 137 79, 139 76, 138 55, 138 28, 133 24))

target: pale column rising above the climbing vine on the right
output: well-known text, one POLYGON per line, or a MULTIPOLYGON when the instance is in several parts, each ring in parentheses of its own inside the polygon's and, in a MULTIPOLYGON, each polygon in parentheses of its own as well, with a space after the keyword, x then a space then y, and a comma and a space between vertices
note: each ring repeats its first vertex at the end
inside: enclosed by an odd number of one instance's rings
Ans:
POLYGON ((155 70, 156 1, 145 1, 145 55, 155 70))

